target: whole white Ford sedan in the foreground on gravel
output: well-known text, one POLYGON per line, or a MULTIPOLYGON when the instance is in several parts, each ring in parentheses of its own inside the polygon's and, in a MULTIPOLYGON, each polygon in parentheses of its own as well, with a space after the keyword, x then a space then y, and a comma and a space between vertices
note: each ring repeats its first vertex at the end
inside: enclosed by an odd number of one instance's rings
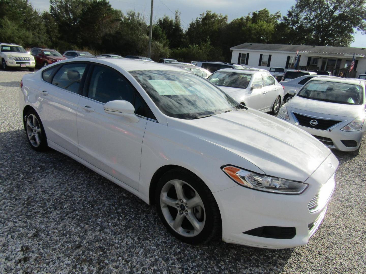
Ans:
POLYGON ((338 166, 330 150, 193 73, 74 58, 20 85, 34 150, 51 147, 155 204, 186 243, 295 247, 324 217, 338 166))

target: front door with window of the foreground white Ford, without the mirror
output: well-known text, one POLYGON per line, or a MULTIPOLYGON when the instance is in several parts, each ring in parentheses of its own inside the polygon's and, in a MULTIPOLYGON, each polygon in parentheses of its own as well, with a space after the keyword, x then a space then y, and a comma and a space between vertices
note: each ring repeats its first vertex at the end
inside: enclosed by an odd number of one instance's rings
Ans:
POLYGON ((141 147, 149 111, 133 85, 116 70, 91 68, 78 106, 79 155, 88 163, 138 190, 141 147), (138 122, 106 113, 104 104, 127 100, 138 122))

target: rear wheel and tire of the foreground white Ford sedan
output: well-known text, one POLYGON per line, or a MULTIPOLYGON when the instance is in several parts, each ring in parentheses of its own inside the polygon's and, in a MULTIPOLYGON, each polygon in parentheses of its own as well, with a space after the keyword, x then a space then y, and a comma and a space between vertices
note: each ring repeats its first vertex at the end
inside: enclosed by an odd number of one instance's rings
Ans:
POLYGON ((25 131, 28 142, 35 151, 45 151, 48 148, 41 119, 34 110, 29 110, 25 116, 25 131))

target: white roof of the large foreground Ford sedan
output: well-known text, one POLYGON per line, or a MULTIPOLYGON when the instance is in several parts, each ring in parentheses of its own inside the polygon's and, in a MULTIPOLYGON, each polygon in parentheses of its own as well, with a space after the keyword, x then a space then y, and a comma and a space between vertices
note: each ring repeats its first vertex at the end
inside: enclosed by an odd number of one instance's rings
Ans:
POLYGON ((114 64, 126 71, 143 71, 143 70, 164 70, 164 71, 182 71, 181 68, 176 66, 168 66, 167 64, 161 64, 157 62, 152 62, 149 60, 141 59, 129 59, 129 58, 88 58, 88 57, 78 57, 72 58, 68 62, 75 61, 92 61, 99 64, 110 65, 114 64))

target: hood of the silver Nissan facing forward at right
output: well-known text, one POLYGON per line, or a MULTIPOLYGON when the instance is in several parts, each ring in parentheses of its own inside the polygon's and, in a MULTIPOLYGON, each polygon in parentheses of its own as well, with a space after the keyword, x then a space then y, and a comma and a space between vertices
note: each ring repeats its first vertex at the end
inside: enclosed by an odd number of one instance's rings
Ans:
POLYGON ((338 104, 295 96, 287 104, 288 108, 306 110, 314 113, 322 113, 335 116, 356 118, 365 114, 363 105, 338 104))

